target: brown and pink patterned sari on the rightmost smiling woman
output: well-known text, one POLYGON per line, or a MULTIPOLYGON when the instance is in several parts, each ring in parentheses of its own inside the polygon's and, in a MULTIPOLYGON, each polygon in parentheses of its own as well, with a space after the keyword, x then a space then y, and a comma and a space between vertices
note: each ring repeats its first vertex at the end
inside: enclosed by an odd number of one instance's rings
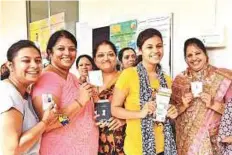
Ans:
POLYGON ((176 119, 177 150, 179 155, 220 155, 217 143, 218 127, 224 112, 224 100, 231 96, 231 72, 207 65, 198 75, 187 69, 178 75, 172 85, 172 103, 179 116, 176 119), (199 76, 200 74, 200 76, 199 76), (200 78, 200 79, 199 79, 200 78), (191 82, 203 82, 203 92, 212 96, 209 108, 200 98, 194 98, 185 111, 181 97, 191 91, 191 82))

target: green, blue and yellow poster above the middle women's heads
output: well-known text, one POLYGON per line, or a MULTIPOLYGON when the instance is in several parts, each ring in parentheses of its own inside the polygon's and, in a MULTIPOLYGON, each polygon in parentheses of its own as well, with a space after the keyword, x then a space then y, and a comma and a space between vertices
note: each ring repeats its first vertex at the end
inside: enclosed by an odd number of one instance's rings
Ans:
POLYGON ((115 44, 117 51, 124 47, 136 48, 136 30, 136 20, 110 25, 110 41, 115 44))

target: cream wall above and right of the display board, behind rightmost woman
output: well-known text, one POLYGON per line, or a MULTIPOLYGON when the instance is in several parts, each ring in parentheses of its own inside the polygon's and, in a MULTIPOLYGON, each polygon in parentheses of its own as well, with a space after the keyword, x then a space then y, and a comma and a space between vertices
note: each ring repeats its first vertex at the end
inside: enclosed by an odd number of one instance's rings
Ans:
POLYGON ((223 49, 209 50, 211 64, 232 69, 232 14, 230 0, 82 0, 80 22, 92 27, 118 21, 174 13, 173 74, 186 68, 183 54, 184 41, 200 35, 200 31, 216 25, 227 29, 227 44, 223 49), (216 5, 217 4, 217 5, 216 5), (217 6, 217 7, 215 7, 217 6))

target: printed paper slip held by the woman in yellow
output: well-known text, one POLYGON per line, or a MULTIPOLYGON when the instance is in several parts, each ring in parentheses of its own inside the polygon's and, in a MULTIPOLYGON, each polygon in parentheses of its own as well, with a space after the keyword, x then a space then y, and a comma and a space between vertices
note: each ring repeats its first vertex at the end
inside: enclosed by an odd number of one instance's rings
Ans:
POLYGON ((156 93, 155 121, 165 122, 168 113, 170 97, 170 89, 162 88, 156 93))

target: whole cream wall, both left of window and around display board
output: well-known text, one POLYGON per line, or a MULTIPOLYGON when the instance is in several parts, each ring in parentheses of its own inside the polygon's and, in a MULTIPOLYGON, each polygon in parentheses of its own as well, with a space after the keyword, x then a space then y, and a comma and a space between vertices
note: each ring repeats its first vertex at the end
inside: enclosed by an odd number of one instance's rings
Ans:
MULTIPOLYGON (((225 26, 226 47, 211 49, 208 53, 212 64, 232 69, 231 0, 81 0, 79 4, 80 21, 88 22, 93 27, 141 16, 173 12, 174 75, 186 67, 183 43, 188 37, 198 36, 200 30, 215 24, 225 26)), ((0 0, 0 19, 0 63, 2 64, 9 46, 19 39, 27 38, 25 0, 0 0)))

